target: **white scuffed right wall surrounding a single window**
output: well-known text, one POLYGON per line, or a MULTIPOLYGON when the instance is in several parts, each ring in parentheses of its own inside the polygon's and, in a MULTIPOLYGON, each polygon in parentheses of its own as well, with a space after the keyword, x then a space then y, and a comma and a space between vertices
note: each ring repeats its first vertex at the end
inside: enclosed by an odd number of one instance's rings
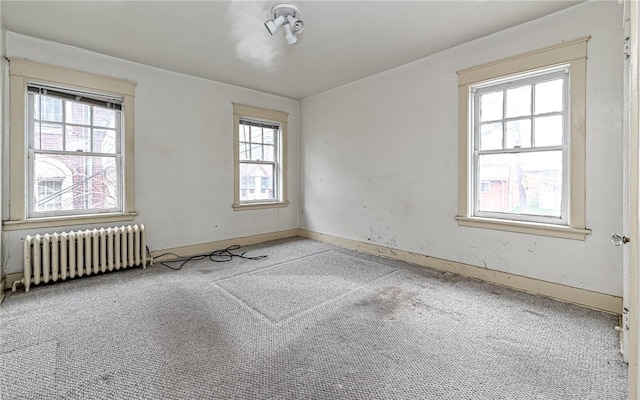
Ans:
POLYGON ((303 100, 301 228, 620 296, 622 38, 621 5, 588 2, 303 100), (456 71, 586 35, 593 233, 458 226, 456 71))

